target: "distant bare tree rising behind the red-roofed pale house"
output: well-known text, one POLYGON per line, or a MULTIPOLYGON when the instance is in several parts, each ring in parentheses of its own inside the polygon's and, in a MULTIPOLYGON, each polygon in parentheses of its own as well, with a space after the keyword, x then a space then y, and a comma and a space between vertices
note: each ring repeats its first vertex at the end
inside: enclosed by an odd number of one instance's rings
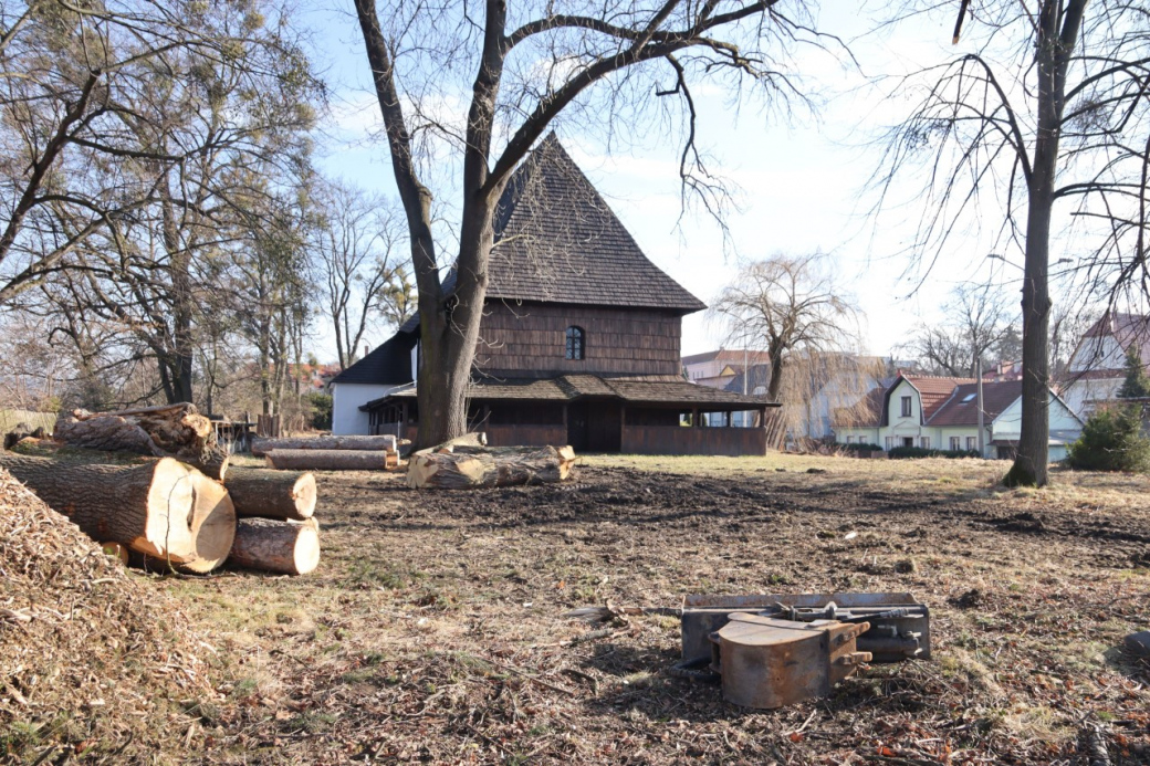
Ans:
POLYGON ((958 377, 973 377, 979 360, 1010 359, 1003 353, 1014 350, 1018 313, 1009 300, 991 285, 959 285, 942 306, 945 321, 920 327, 907 352, 931 373, 958 377))

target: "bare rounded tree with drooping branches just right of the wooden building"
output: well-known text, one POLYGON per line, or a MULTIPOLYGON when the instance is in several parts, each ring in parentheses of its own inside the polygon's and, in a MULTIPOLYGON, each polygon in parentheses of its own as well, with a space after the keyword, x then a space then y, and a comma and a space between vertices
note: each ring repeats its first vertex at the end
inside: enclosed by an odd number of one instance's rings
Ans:
POLYGON ((860 312, 835 285, 827 266, 821 253, 773 255, 741 268, 712 301, 711 313, 726 323, 729 345, 767 352, 767 397, 774 401, 792 359, 797 365, 802 358, 821 359, 858 347, 860 312))

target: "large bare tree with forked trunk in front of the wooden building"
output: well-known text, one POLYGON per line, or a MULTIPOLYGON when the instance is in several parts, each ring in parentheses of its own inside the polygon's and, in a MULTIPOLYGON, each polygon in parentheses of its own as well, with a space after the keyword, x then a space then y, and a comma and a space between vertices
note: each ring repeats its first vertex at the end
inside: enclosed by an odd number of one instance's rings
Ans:
POLYGON ((612 0, 570 13, 542 0, 515 8, 489 0, 480 8, 477 15, 465 2, 401 2, 389 6, 384 25, 375 0, 355 0, 419 289, 421 444, 466 428, 493 217, 512 171, 552 123, 562 114, 589 122, 605 115, 618 128, 637 120, 652 94, 676 98, 687 120, 680 171, 710 205, 718 187, 695 150, 691 83, 710 77, 735 87, 745 76, 765 92, 795 95, 790 47, 822 39, 803 0, 612 0), (443 114, 453 102, 465 104, 466 114, 443 114), (450 296, 424 173, 443 161, 427 151, 432 138, 462 158, 450 296))

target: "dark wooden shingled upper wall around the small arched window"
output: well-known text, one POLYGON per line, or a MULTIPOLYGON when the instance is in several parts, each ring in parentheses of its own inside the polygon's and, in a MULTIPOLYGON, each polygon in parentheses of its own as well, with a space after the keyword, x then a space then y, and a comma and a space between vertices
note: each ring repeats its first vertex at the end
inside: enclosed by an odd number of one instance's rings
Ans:
POLYGON ((490 301, 477 369, 506 377, 562 373, 678 375, 682 320, 654 311, 490 301), (566 359, 567 328, 583 328, 584 359, 566 359))

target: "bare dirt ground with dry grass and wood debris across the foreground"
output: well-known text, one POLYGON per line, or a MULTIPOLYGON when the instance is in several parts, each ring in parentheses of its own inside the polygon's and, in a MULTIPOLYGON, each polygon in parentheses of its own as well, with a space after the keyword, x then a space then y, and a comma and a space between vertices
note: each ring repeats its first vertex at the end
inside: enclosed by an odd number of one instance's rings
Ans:
POLYGON ((1006 491, 1004 467, 592 457, 469 493, 322 474, 315 575, 156 581, 217 652, 177 760, 1150 764, 1150 664, 1118 649, 1150 628, 1150 481, 1006 491), (752 712, 668 673, 676 619, 562 616, 836 590, 927 603, 934 660, 752 712))

